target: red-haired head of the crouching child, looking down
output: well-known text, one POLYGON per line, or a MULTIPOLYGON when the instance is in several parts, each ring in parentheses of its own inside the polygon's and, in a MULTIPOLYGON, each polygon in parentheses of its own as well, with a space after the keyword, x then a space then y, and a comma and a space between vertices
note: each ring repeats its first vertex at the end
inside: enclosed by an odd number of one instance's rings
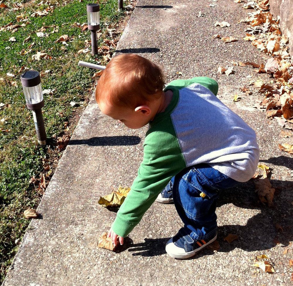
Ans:
POLYGON ((153 105, 161 98, 163 87, 164 76, 157 65, 136 54, 121 54, 103 71, 96 101, 106 115, 127 127, 140 128, 154 115, 153 105))

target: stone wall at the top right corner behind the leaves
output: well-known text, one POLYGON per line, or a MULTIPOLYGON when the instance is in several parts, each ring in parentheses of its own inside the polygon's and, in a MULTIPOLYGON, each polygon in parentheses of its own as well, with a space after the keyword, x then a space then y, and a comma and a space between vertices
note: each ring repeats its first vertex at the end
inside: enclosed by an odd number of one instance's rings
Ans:
POLYGON ((275 17, 280 16, 281 31, 289 38, 290 55, 293 60, 293 0, 270 0, 270 11, 275 17))

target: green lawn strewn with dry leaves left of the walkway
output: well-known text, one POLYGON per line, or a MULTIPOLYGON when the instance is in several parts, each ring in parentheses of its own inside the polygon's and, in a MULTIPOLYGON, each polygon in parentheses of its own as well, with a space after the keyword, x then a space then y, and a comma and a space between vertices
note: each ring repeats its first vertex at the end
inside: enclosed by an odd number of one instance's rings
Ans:
MULTIPOLYGON (((71 121, 76 108, 69 103, 84 102, 85 106, 89 97, 88 91, 93 85, 93 70, 78 67, 78 61, 99 60, 102 65, 105 64, 102 56, 95 58, 90 53, 77 55, 77 51, 85 48, 84 41, 91 37, 90 31, 81 32, 79 27, 72 24, 87 21, 86 4, 93 1, 61 1, 57 6, 57 1, 52 0, 54 9, 47 16, 37 18, 30 15, 36 10, 48 8, 49 5, 37 6, 39 1, 25 2, 27 1, 21 2, 25 6, 18 11, 0 8, 0 27, 9 22, 29 23, 14 33, 0 32, 0 103, 4 104, 0 107, 0 283, 4 280, 29 223, 23 217, 23 211, 28 207, 36 208, 42 197, 42 189, 38 188, 38 184, 35 187, 30 184, 30 179, 33 176, 40 178, 42 173, 47 180, 50 179, 57 164, 56 160, 62 155, 53 144, 45 147, 38 145, 32 114, 26 108, 21 86, 20 75, 23 71, 19 70, 27 67, 39 71, 42 88, 55 89, 52 95, 44 95, 45 106, 42 109, 47 137, 52 143, 54 138, 66 131, 64 123, 71 121), (24 18, 27 16, 29 21, 17 22, 16 16, 20 14, 24 18), (51 33, 55 28, 52 25, 58 26, 59 31, 51 33), (36 35, 41 27, 46 27, 44 33, 48 37, 36 35), (67 42, 68 45, 55 43, 63 34, 69 35, 71 39, 67 42), (24 43, 28 36, 31 37, 30 40, 24 43), (8 41, 11 37, 15 37, 16 41, 8 41), (21 56, 20 51, 28 50, 33 42, 35 44, 31 47, 32 51, 21 56), (62 47, 67 50, 63 51, 62 47), (45 51, 52 59, 33 61, 32 55, 38 51, 45 51), (45 73, 45 70, 50 72, 45 73), (6 73, 12 73, 15 77, 8 77, 6 73), (44 169, 44 164, 49 164, 49 167, 44 169)), ((12 2, 6 1, 5 4, 8 8, 13 7, 12 2)), ((124 15, 122 12, 118 13, 116 7, 117 0, 100 1, 103 35, 98 40, 98 45, 102 45, 103 40, 109 38, 105 32, 108 25, 117 23, 124 15)))

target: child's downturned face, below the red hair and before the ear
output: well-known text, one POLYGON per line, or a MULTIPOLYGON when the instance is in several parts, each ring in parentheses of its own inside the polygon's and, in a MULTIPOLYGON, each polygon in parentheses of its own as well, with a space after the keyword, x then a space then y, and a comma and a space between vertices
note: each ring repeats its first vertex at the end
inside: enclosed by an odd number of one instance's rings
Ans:
POLYGON ((108 101, 100 100, 98 102, 101 112, 124 123, 125 126, 131 129, 138 129, 149 123, 149 116, 144 115, 144 112, 135 111, 134 108, 114 106, 108 101))

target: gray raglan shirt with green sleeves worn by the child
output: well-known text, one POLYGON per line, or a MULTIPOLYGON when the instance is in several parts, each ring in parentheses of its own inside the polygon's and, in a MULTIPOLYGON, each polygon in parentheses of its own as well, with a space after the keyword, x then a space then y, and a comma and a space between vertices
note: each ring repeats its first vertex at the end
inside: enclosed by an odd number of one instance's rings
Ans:
POLYGON ((177 79, 166 110, 149 124, 144 158, 130 193, 117 212, 113 230, 127 236, 170 179, 186 167, 209 164, 230 178, 245 182, 259 159, 256 135, 217 97, 218 84, 208 77, 177 79))

